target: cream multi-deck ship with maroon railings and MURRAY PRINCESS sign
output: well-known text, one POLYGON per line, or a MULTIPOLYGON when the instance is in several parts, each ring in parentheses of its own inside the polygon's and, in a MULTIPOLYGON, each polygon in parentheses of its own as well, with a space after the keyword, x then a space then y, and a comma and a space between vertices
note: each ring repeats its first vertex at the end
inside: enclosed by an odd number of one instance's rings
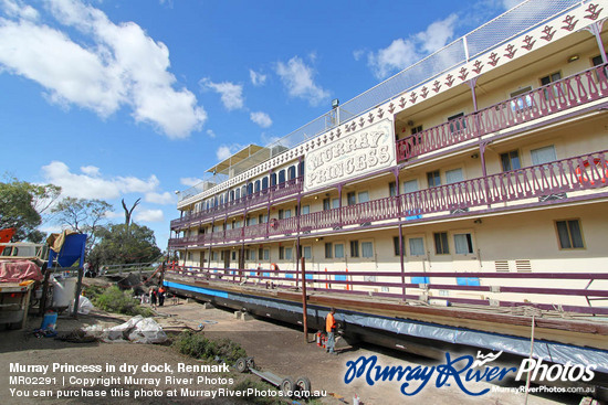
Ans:
POLYGON ((606 1, 530 0, 179 193, 165 284, 608 372, 606 1), (314 136, 313 136, 314 134, 314 136), (305 299, 304 299, 305 298, 305 299), (533 327, 534 326, 534 327, 533 327))

